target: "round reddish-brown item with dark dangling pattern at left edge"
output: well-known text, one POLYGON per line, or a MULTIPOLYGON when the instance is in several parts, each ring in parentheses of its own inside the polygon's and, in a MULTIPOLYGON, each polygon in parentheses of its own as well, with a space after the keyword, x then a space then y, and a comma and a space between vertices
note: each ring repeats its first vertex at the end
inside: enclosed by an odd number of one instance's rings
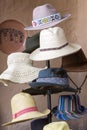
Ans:
POLYGON ((6 54, 23 51, 27 33, 24 25, 14 19, 0 23, 0 49, 6 54))

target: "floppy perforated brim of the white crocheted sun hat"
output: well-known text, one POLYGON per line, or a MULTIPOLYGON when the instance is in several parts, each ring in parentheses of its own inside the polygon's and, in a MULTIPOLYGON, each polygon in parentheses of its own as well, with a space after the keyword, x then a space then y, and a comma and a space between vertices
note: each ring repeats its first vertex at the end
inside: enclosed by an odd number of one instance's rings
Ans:
POLYGON ((13 65, 9 66, 1 75, 0 79, 8 80, 14 83, 28 83, 38 76, 38 73, 43 68, 36 68, 29 65, 13 65), (16 71, 18 72, 17 74, 16 71))

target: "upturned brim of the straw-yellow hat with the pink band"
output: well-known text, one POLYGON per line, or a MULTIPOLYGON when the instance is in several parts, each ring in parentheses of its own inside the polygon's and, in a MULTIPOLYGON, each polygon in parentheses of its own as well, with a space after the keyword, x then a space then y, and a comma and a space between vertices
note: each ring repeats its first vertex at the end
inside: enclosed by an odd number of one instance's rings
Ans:
POLYGON ((16 119, 13 119, 11 122, 2 124, 2 126, 12 125, 12 124, 32 120, 32 119, 37 119, 37 118, 40 118, 40 117, 45 117, 49 113, 50 113, 49 109, 44 110, 42 113, 39 112, 39 111, 26 113, 26 114, 23 114, 23 115, 17 117, 16 119))

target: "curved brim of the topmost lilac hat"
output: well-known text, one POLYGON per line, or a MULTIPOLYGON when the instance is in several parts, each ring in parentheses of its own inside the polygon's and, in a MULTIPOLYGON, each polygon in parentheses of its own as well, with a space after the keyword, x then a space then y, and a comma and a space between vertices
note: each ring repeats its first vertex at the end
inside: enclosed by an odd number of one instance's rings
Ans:
POLYGON ((56 22, 50 22, 48 24, 43 24, 43 25, 40 25, 38 27, 33 27, 33 26, 25 27, 24 29, 25 30, 42 30, 42 29, 45 29, 45 28, 53 27, 53 26, 63 22, 64 20, 68 19, 70 16, 71 16, 71 14, 66 14, 60 20, 58 20, 56 22))

